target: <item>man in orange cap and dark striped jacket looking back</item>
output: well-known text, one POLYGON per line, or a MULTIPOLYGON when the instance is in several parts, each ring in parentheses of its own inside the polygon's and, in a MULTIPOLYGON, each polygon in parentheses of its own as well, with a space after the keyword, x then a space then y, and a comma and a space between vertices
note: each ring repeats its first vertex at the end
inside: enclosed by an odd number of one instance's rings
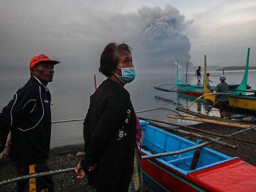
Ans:
MULTIPOLYGON (((44 54, 32 57, 30 79, 14 94, 0 113, 0 152, 11 131, 10 157, 18 175, 49 171, 48 158, 51 139, 51 94, 46 87, 52 82, 54 65, 44 54)), ((54 190, 51 176, 21 180, 17 191, 54 190)))

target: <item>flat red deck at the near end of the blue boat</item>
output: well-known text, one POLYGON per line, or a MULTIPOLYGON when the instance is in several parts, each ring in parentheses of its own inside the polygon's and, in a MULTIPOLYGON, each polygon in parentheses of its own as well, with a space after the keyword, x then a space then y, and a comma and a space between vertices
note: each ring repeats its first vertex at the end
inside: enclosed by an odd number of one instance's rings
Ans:
POLYGON ((212 192, 256 191, 256 167, 240 158, 189 173, 187 178, 212 192))

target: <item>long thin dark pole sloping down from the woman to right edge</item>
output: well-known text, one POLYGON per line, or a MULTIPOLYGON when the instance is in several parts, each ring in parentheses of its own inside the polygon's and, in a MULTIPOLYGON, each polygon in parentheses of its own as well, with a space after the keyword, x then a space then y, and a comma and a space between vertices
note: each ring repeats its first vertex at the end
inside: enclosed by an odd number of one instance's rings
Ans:
POLYGON ((205 131, 205 130, 202 130, 202 129, 197 129, 197 128, 190 127, 190 126, 187 126, 187 125, 180 125, 180 124, 176 124, 176 123, 170 123, 170 122, 159 121, 159 120, 155 120, 155 119, 148 119, 148 118, 143 118, 143 117, 139 117, 139 118, 143 119, 143 120, 146 120, 146 121, 155 121, 155 122, 158 122, 158 123, 174 125, 174 126, 178 126, 178 127, 182 127, 182 128, 187 128, 187 129, 191 129, 191 130, 207 133, 207 134, 210 134, 210 135, 216 135, 216 136, 220 136, 220 137, 225 137, 225 138, 231 139, 231 140, 237 140, 237 141, 243 141, 243 142, 246 142, 246 143, 256 144, 256 141, 241 139, 241 138, 237 138, 237 137, 226 136, 226 135, 222 135, 222 134, 215 133, 215 132, 210 132, 210 131, 205 131))

